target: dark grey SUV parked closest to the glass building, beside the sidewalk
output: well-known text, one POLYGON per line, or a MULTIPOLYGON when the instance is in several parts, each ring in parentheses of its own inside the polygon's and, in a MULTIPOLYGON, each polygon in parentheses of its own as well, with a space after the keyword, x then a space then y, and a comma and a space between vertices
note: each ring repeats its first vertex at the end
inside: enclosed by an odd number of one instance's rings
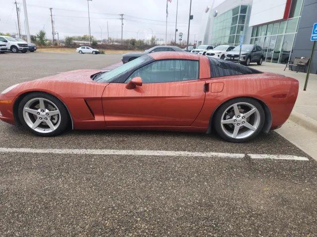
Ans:
MULTIPOLYGON (((240 45, 236 46, 232 51, 225 53, 225 60, 238 62, 240 53, 240 45)), ((249 66, 250 63, 261 65, 264 58, 262 47, 255 44, 242 44, 240 62, 249 66)))

